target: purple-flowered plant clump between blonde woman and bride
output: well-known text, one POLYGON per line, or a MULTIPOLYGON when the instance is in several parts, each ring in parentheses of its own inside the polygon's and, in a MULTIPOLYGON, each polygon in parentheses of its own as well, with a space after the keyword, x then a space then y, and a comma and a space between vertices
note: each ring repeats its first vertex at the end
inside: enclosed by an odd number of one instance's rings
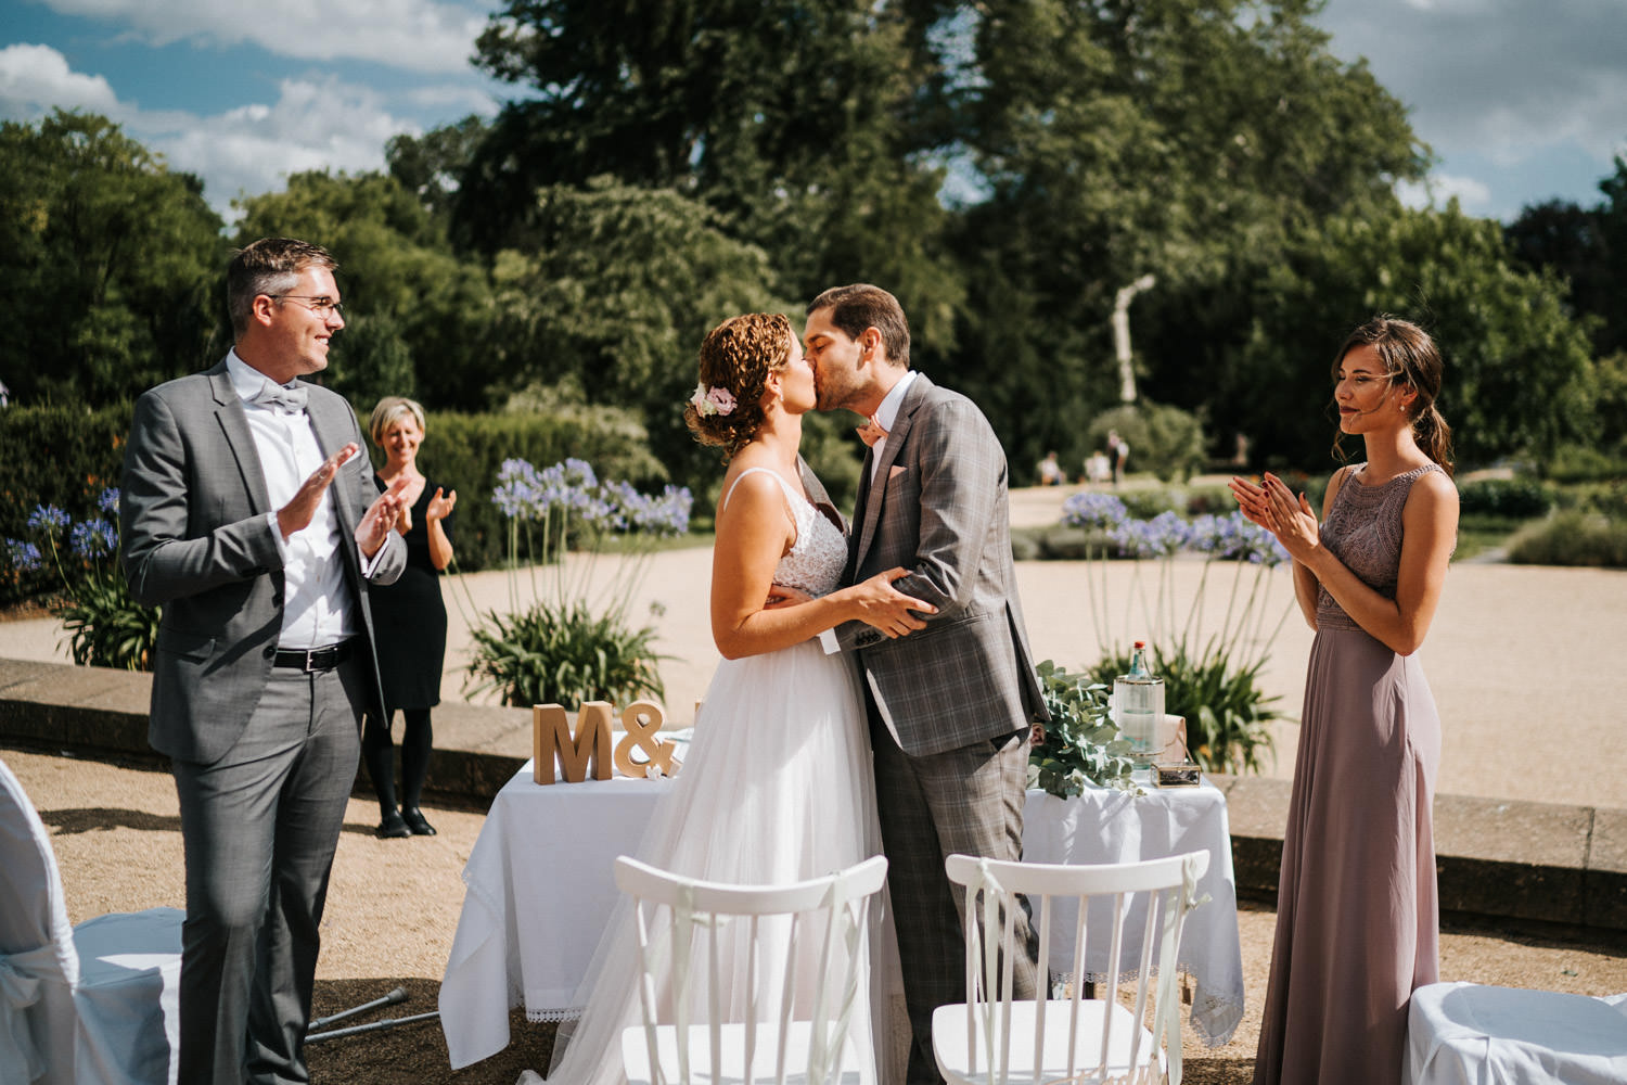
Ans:
POLYGON ((509 459, 491 501, 509 527, 509 613, 470 623, 475 690, 498 690, 504 704, 613 704, 661 698, 656 630, 631 623, 633 592, 648 571, 652 543, 688 530, 693 499, 682 486, 643 495, 625 481, 600 481, 584 460, 545 470, 509 459), (530 571, 530 605, 521 604, 521 547, 530 571), (568 550, 579 558, 566 561, 568 550), (587 576, 602 551, 617 573, 597 597, 587 576))

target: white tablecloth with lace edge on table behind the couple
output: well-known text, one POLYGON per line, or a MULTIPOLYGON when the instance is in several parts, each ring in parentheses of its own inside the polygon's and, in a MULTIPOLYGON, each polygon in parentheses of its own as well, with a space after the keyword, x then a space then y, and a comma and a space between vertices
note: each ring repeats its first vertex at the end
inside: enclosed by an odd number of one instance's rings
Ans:
MULTIPOLYGON (((508 1046, 508 1012, 571 1015, 576 984, 615 906, 615 857, 636 851, 672 781, 615 778, 539 786, 530 763, 503 786, 464 867, 464 911, 441 983, 452 1069, 508 1046)), ((1028 792, 1023 854, 1035 862, 1114 862, 1210 849, 1188 919, 1181 966, 1193 974, 1193 1030, 1225 1043, 1243 1015, 1243 958, 1225 797, 1212 786, 1136 797, 1028 792)), ((1067 947, 1062 968, 1072 960, 1067 947)))

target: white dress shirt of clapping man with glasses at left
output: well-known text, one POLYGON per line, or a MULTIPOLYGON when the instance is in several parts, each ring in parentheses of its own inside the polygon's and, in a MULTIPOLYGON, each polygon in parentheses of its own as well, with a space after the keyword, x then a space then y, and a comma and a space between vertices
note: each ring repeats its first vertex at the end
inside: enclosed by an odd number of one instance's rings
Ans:
MULTIPOLYGON (((239 358, 236 350, 226 355, 226 373, 233 390, 242 399, 242 413, 265 477, 265 496, 272 509, 280 509, 293 501, 294 491, 327 457, 316 442, 306 412, 249 402, 262 386, 273 381, 239 358)), ((332 488, 322 495, 311 522, 288 538, 283 538, 277 524, 277 512, 267 512, 272 538, 283 555, 283 631, 277 638, 277 647, 327 647, 361 631, 351 615, 343 556, 338 551, 345 538, 330 496, 332 488)), ((363 566, 366 564, 363 558, 363 566)))

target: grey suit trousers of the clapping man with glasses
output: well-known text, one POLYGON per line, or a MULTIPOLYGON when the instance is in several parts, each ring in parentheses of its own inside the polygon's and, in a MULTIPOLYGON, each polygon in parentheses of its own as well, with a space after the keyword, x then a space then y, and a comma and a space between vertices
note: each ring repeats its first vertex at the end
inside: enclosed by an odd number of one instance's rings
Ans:
POLYGON ((304 1022, 364 690, 355 657, 317 673, 273 667, 226 756, 172 763, 187 869, 187 1085, 311 1080, 304 1022))

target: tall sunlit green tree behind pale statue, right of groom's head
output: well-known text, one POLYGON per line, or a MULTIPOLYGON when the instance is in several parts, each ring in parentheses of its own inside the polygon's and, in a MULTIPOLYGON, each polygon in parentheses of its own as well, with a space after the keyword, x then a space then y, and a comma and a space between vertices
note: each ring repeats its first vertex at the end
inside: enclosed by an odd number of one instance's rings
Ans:
POLYGON ((1144 394, 1209 407, 1204 371, 1246 329, 1240 288, 1297 231, 1394 207, 1394 181, 1422 174, 1404 109, 1328 52, 1316 7, 991 0, 962 16, 970 62, 949 96, 989 197, 960 252, 1028 316, 1014 325, 973 288, 975 350, 955 376, 1035 400, 1004 434, 1015 454, 1069 447, 1116 400, 1103 371, 1121 286, 1157 277, 1131 309, 1144 394), (1038 368, 989 364, 1002 355, 1038 368))

